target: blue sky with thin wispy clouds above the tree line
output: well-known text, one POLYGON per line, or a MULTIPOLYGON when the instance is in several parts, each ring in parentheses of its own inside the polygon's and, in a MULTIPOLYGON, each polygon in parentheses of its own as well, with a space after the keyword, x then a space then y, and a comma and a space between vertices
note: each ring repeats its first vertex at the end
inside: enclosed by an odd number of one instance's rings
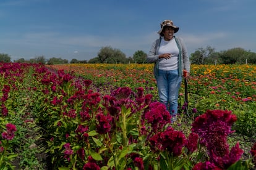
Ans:
POLYGON ((189 55, 242 47, 256 52, 255 0, 1 0, 0 53, 90 60, 102 47, 148 53, 173 20, 189 55))

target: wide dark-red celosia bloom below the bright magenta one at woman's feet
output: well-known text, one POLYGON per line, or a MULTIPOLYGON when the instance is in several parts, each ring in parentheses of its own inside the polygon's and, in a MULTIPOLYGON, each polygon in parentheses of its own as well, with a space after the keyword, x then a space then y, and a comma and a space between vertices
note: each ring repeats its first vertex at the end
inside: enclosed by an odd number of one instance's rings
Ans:
POLYGON ((164 132, 158 132, 150 138, 150 147, 153 151, 164 150, 172 153, 173 156, 179 156, 182 152, 182 147, 186 145, 187 140, 184 134, 180 131, 175 131, 172 127, 168 127, 164 132))

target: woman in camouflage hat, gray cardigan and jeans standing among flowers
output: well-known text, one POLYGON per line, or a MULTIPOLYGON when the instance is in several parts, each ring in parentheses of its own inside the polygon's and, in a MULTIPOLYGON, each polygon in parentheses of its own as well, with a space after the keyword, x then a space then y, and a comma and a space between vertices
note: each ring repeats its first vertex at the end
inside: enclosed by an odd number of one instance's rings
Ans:
POLYGON ((184 41, 174 36, 179 27, 172 20, 164 20, 147 55, 147 61, 155 63, 154 76, 158 86, 160 102, 166 105, 173 119, 177 115, 179 88, 182 75, 189 78, 190 62, 184 41), (186 72, 186 74, 185 74, 186 72))

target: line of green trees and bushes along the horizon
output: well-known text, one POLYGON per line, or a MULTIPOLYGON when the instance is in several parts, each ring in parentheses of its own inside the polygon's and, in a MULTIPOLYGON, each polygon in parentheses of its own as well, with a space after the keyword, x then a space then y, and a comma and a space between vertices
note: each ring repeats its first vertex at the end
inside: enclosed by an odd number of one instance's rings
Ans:
MULTIPOLYGON (((0 54, 0 62, 11 62, 11 57, 8 54, 0 54)), ((98 52, 97 57, 90 60, 61 59, 61 57, 50 58, 38 56, 30 60, 18 59, 14 60, 18 63, 44 63, 44 64, 64 64, 64 63, 147 63, 147 54, 143 51, 136 51, 132 57, 126 57, 124 52, 119 49, 113 49, 111 46, 102 47, 98 52)), ((256 53, 245 51, 241 47, 228 49, 226 51, 216 52, 211 46, 205 48, 200 47, 194 53, 190 54, 190 62, 192 64, 242 64, 256 63, 256 53)))

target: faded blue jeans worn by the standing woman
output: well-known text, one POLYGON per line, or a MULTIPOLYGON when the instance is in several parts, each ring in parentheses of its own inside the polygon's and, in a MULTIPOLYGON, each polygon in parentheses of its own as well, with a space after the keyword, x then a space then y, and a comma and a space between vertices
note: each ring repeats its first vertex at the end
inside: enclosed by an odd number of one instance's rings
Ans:
POLYGON ((158 70, 156 83, 160 102, 166 105, 172 116, 177 115, 179 88, 181 87, 181 76, 177 70, 158 70))

